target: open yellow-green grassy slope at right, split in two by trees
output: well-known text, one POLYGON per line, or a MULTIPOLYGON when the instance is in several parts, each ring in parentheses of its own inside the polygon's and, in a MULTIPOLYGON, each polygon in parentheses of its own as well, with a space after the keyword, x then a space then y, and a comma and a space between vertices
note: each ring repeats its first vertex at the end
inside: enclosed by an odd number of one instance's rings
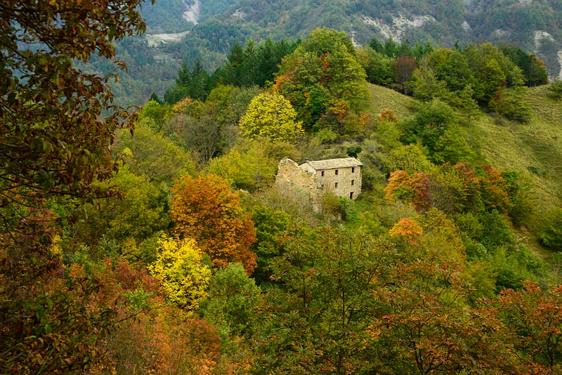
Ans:
MULTIPOLYGON (((399 119, 412 115, 416 100, 381 86, 370 88, 373 116, 381 110, 393 110, 399 119)), ((517 171, 530 185, 539 221, 544 213, 562 204, 562 105, 546 92, 546 86, 529 90, 532 119, 528 124, 482 112, 464 129, 469 144, 481 145, 485 162, 504 171, 517 171)))

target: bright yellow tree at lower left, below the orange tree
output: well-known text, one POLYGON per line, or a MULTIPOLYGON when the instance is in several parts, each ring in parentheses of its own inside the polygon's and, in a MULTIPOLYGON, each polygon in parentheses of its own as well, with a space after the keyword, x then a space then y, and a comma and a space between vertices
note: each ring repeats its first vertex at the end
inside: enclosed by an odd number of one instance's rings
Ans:
POLYGON ((150 274, 162 282, 171 302, 185 310, 197 310, 207 296, 211 270, 205 265, 201 249, 193 239, 162 237, 150 274))

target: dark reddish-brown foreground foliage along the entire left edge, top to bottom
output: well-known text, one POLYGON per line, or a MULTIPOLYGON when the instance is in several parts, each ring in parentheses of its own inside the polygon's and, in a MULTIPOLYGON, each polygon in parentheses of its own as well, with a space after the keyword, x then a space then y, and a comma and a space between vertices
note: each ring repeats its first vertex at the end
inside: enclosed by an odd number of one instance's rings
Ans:
POLYGON ((103 338, 126 319, 117 316, 119 296, 93 301, 105 288, 99 278, 73 272, 63 278, 53 242, 60 213, 46 203, 107 195, 93 181, 119 166, 110 156, 113 133, 132 129, 134 116, 112 103, 115 74, 89 74, 74 61, 115 58, 113 41, 145 30, 138 6, 136 0, 0 4, 2 373, 101 371, 108 362, 103 338))

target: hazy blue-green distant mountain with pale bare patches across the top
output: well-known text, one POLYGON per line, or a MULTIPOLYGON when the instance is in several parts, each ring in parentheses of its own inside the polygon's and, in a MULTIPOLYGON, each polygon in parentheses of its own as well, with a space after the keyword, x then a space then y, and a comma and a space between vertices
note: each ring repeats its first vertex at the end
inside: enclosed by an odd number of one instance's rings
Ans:
POLYGON ((142 13, 147 33, 136 49, 124 46, 129 58, 138 55, 124 84, 145 87, 117 87, 132 100, 162 95, 181 60, 199 59, 213 71, 235 42, 305 39, 316 27, 344 31, 357 46, 373 37, 445 47, 514 43, 544 60, 551 78, 562 78, 562 0, 158 0, 142 13), (151 77, 135 75, 150 67, 151 77))

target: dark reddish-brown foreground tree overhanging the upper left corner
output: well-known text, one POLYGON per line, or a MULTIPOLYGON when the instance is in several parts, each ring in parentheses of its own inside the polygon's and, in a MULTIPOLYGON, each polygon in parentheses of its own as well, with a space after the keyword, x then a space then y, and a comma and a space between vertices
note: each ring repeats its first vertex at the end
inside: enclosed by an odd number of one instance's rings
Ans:
POLYGON ((93 180, 117 169, 107 151, 112 134, 132 129, 134 117, 112 104, 115 74, 86 74, 72 60, 115 58, 113 41, 145 30, 139 1, 74 3, 0 5, 2 233, 29 223, 22 207, 37 206, 39 197, 99 195, 93 180))

